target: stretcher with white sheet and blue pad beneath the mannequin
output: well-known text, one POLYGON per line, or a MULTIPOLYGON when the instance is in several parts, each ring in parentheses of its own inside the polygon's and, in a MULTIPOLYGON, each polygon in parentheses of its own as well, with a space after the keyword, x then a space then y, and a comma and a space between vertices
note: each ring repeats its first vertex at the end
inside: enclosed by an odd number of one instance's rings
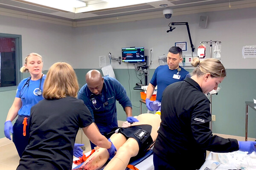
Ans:
MULTIPOLYGON (((86 153, 85 155, 87 156, 89 154, 90 154, 90 152, 86 153)), ((146 152, 145 155, 140 159, 137 159, 137 160, 131 159, 129 164, 134 165, 139 170, 154 170, 153 150, 148 150, 148 152, 146 152)), ((72 170, 79 168, 81 165, 82 165, 82 163, 80 165, 76 165, 73 163, 72 170)), ((100 169, 100 170, 103 170, 104 167, 105 166, 103 166, 102 169, 100 169)), ((128 170, 128 168, 127 168, 127 170, 128 170)))

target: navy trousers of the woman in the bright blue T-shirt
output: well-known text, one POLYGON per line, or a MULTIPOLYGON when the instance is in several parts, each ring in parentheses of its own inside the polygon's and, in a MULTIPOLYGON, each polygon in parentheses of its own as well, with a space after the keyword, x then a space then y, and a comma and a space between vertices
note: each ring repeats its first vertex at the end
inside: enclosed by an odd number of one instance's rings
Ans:
POLYGON ((29 144, 29 116, 18 116, 15 124, 13 125, 12 140, 21 158, 23 151, 29 144), (23 136, 23 120, 27 117, 26 136, 23 136))

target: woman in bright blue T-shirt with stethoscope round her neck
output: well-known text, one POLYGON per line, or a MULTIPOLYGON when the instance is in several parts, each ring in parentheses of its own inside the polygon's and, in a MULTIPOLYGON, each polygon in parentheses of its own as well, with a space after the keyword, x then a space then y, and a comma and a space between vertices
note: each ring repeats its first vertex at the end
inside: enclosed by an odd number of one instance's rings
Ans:
POLYGON ((25 58, 24 66, 20 68, 20 72, 29 72, 31 77, 25 78, 19 83, 14 102, 4 124, 4 134, 6 138, 11 140, 10 132, 13 133, 12 139, 20 157, 29 140, 29 127, 27 125, 29 124, 30 109, 44 99, 41 94, 46 75, 42 73, 42 68, 41 55, 31 53, 25 58), (17 116, 18 118, 12 126, 12 121, 17 116))

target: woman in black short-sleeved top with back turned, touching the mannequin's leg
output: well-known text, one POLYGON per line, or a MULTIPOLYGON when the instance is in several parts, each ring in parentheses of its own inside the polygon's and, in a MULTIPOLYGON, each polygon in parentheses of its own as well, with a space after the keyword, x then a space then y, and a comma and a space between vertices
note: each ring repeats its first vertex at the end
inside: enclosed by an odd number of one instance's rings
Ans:
POLYGON ((79 128, 93 143, 114 155, 116 148, 99 133, 89 109, 76 98, 78 90, 71 65, 56 62, 49 68, 44 99, 31 108, 29 144, 17 170, 71 170, 79 128))

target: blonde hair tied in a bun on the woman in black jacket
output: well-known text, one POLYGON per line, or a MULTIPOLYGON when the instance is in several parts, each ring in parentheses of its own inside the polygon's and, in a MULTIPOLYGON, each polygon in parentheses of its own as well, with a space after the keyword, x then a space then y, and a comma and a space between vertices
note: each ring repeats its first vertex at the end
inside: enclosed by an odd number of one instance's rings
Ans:
POLYGON ((199 58, 193 58, 191 65, 196 67, 191 75, 197 75, 198 77, 202 74, 209 73, 211 77, 226 77, 227 73, 219 59, 208 58, 202 61, 199 58))

